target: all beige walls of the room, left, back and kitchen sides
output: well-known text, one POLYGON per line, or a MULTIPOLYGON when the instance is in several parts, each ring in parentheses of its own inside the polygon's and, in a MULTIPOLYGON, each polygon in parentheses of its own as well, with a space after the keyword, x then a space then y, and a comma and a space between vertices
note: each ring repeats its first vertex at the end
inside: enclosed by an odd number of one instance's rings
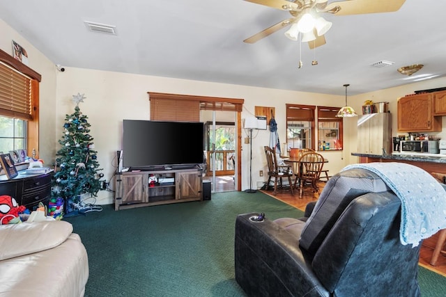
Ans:
MULTIPOLYGON (((254 88, 224 83, 209 83, 151 77, 138 74, 105 72, 99 70, 66 67, 65 72, 58 72, 48 58, 34 48, 19 33, 0 20, 0 48, 10 53, 11 40, 15 40, 29 53, 29 66, 42 74, 40 83, 40 157, 47 165, 52 165, 58 140, 62 136, 65 115, 74 111, 72 95, 85 94, 86 99, 79 104, 81 111, 89 117, 91 136, 94 138, 98 161, 106 179, 112 179, 116 169, 116 150, 121 149, 121 125, 123 119, 149 119, 149 100, 147 92, 178 93, 187 95, 229 97, 245 99, 242 118, 254 114, 254 106, 275 107, 279 138, 284 142, 286 129, 285 104, 311 104, 321 106, 343 106, 344 96, 302 93, 291 90, 274 90, 254 88)), ((438 88, 445 86, 445 79, 436 79, 415 85, 379 90, 374 93, 348 98, 348 104, 360 112, 366 99, 390 102, 390 111, 394 114, 394 131, 396 131, 396 100, 398 97, 413 93, 413 90, 438 88)), ((341 87, 340 87, 341 88, 341 87)), ((355 163, 356 157, 351 152, 356 150, 356 118, 344 119, 344 151, 322 152, 329 159, 330 174, 339 172, 348 163, 355 163)), ((446 130, 445 130, 446 131, 446 130)), ((245 131, 244 131, 245 133, 245 131)), ((397 135, 397 133, 393 133, 397 135)), ((246 134, 245 134, 246 135, 246 134)), ((245 137, 243 135, 243 138, 245 137)), ((252 180, 255 186, 266 180, 259 176, 259 170, 266 170, 263 145, 268 145, 270 131, 255 131, 252 141, 252 180)), ((243 143, 242 186, 249 186, 249 145, 243 143)), ((114 179, 112 179, 112 182, 114 179)), ((100 191, 99 203, 112 203, 111 192, 100 191)))

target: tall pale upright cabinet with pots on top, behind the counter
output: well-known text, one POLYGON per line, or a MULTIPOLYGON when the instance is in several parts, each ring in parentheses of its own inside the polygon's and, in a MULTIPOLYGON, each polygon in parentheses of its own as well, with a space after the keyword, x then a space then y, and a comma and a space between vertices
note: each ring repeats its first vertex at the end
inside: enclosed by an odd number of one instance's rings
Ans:
POLYGON ((363 154, 392 152, 391 113, 370 113, 358 118, 357 151, 363 154))

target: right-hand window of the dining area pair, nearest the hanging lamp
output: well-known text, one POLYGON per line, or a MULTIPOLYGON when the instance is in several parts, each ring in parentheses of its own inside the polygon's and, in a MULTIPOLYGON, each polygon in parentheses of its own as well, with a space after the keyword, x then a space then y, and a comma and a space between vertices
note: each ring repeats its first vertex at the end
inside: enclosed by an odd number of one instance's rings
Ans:
POLYGON ((318 106, 318 150, 342 150, 342 118, 339 107, 318 106))

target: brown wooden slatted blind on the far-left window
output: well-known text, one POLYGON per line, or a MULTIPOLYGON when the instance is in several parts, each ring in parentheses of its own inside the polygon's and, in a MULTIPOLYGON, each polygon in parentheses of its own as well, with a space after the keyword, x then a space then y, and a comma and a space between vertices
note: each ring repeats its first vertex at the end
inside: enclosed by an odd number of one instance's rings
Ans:
POLYGON ((0 115, 33 120, 31 79, 0 63, 0 115))

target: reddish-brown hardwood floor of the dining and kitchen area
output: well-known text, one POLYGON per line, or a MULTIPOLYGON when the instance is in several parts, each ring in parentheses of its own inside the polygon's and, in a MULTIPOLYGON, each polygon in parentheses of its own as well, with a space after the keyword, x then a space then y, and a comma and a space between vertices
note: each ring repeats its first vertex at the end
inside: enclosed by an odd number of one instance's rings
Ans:
MULTIPOLYGON (((319 188, 321 189, 321 191, 323 186, 325 186, 325 182, 319 183, 319 188)), ((289 190, 277 191, 276 195, 272 195, 272 190, 262 192, 302 211, 305 211, 305 206, 308 202, 316 201, 319 197, 318 193, 312 193, 312 190, 309 189, 307 189, 307 191, 304 191, 302 198, 299 198, 298 191, 294 191, 294 195, 291 195, 291 192, 289 190)), ((446 256, 444 254, 440 254, 440 256, 438 257, 436 266, 432 266, 431 264, 429 264, 429 262, 431 261, 433 249, 435 248, 437 243, 437 239, 438 234, 435 234, 429 239, 425 239, 423 241, 422 248, 420 250, 420 265, 431 271, 435 271, 436 273, 440 273, 441 275, 446 276, 446 256)))

